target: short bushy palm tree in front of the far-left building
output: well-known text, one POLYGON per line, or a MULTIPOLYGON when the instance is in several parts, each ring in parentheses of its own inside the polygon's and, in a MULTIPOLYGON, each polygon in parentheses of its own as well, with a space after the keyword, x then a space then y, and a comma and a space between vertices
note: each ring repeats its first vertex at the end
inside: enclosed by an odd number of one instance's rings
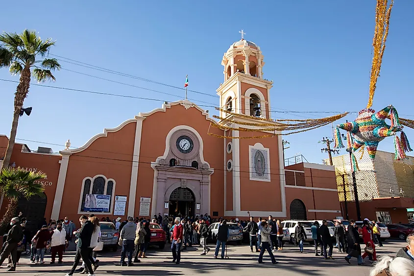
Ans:
POLYGON ((17 202, 24 196, 29 200, 33 196, 44 197, 45 188, 38 182, 47 176, 40 171, 27 172, 21 168, 4 168, 0 174, 0 193, 9 201, 0 228, 4 227, 16 214, 17 202))

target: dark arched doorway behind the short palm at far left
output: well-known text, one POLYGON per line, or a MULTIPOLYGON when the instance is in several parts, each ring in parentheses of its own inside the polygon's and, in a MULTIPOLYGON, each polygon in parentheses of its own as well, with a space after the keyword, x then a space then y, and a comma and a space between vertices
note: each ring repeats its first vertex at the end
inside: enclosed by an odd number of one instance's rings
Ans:
POLYGON ((21 197, 17 202, 16 214, 22 212, 23 217, 27 218, 26 228, 28 228, 31 233, 36 233, 38 224, 43 221, 47 203, 48 198, 46 197, 46 194, 44 194, 43 198, 40 196, 33 196, 30 200, 21 197))

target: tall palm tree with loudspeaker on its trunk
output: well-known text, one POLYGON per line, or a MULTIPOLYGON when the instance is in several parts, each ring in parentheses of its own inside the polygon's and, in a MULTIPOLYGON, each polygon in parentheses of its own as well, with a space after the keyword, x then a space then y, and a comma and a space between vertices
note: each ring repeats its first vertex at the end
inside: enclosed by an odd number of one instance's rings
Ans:
POLYGON ((55 41, 50 38, 43 41, 36 32, 29 30, 24 30, 21 34, 4 32, 0 35, 0 68, 9 67, 12 75, 20 75, 19 85, 14 94, 13 123, 3 168, 9 166, 20 112, 29 92, 31 75, 33 74, 38 82, 56 80, 51 71, 59 70, 60 64, 55 58, 45 57, 54 44, 55 41))

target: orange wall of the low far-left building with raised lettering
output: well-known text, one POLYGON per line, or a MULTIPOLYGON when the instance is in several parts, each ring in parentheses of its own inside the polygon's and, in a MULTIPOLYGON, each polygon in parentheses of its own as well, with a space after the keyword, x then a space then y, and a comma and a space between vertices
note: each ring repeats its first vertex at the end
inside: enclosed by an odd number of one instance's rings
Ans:
MULTIPOLYGON (((8 139, 5 136, 0 137, 0 147, 5 149, 7 147, 8 139), (4 137, 2 139, 2 137, 4 137)), ((62 158, 60 155, 41 154, 34 152, 21 152, 22 144, 15 144, 10 158, 10 163, 16 163, 16 167, 21 167, 29 171, 42 171, 47 175, 47 179, 42 179, 41 183, 45 188, 45 194, 47 197, 47 205, 45 217, 49 218, 53 201, 55 198, 57 177, 59 176, 59 160, 62 158)), ((4 153, 4 152, 3 152, 4 153)), ((6 210, 8 201, 3 201, 1 206, 0 215, 3 215, 6 210)), ((23 214, 24 215, 24 214, 23 214)))

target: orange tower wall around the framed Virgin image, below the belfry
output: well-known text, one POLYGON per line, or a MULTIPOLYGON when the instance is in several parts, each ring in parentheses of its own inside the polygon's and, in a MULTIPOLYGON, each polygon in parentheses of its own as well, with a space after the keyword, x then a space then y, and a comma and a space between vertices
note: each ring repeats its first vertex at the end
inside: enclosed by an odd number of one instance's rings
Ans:
MULTIPOLYGON (((264 135, 263 132, 240 132, 242 137, 264 135)), ((240 139, 240 198, 243 211, 282 211, 280 197, 279 153, 277 136, 262 139, 240 139), (249 175, 249 145, 261 143, 269 149, 270 180, 271 182, 250 180, 249 175), (263 198, 264 193, 269 200, 259 201, 252 199, 263 198)))

